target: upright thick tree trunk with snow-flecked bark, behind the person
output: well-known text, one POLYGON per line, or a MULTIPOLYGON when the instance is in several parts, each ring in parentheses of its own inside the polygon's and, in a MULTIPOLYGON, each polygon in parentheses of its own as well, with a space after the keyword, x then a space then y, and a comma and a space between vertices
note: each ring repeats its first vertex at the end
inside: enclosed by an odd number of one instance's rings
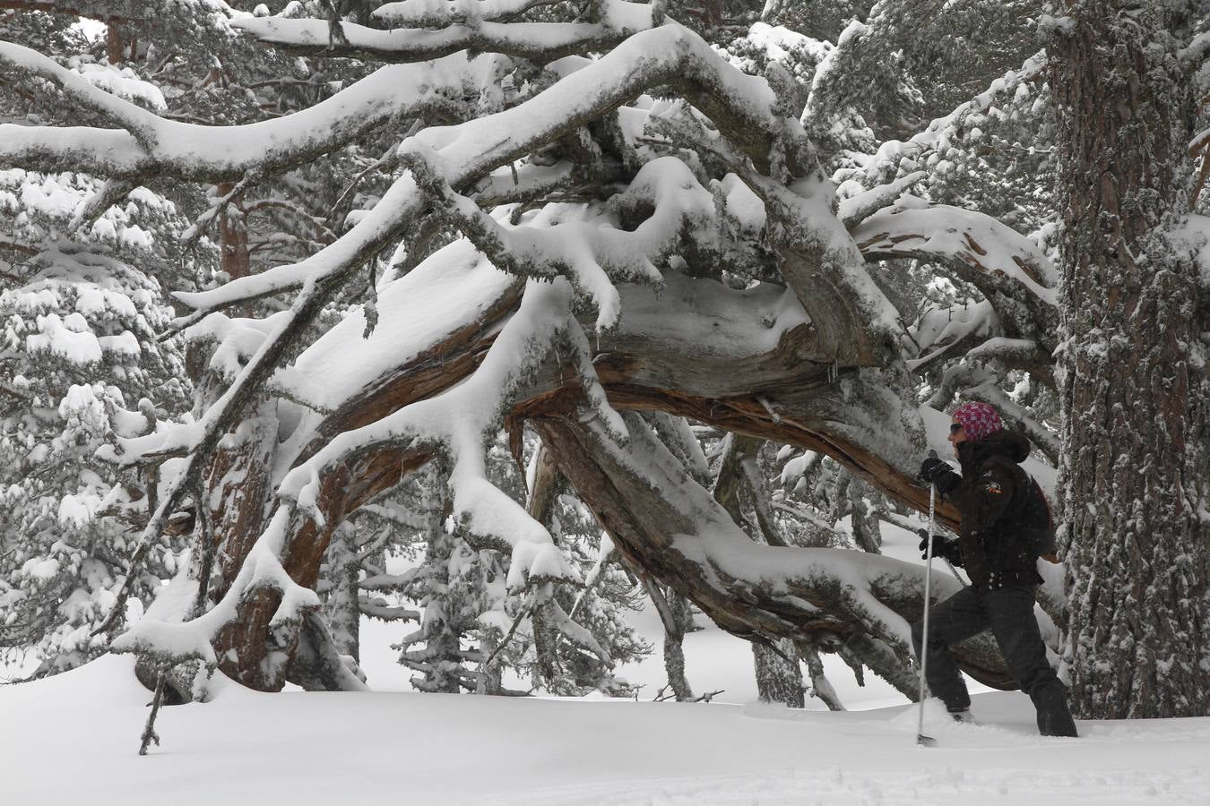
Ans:
POLYGON ((1192 4, 1070 4, 1051 87, 1064 158, 1062 515, 1072 704, 1210 713, 1206 388, 1176 40, 1192 4))

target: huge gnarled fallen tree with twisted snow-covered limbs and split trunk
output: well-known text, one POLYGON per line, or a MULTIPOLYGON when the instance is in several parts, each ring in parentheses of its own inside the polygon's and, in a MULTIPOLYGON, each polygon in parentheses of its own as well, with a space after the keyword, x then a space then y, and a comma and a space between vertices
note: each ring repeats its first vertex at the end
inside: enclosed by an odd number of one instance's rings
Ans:
MULTIPOLYGON (((630 563, 736 634, 848 653, 911 696, 916 566, 753 544, 644 421, 620 412, 809 448, 923 510, 914 472, 929 424, 932 445, 944 445, 946 418, 918 406, 917 372, 949 350, 993 354, 1001 372, 1045 367, 1053 269, 1003 224, 905 196, 910 173, 837 199, 820 167, 828 155, 777 70, 739 73, 653 6, 603 1, 589 16, 484 21, 473 36, 454 19, 390 37, 338 24, 333 54, 388 51, 384 60, 397 64, 313 109, 213 131, 182 128, 0 45, 11 68, 119 126, 0 127, 0 162, 33 169, 254 185, 385 117, 463 121, 414 127, 394 150, 402 170, 390 190, 330 245, 177 295, 191 312, 173 332, 209 344, 224 384, 196 421, 122 440, 110 458, 183 459, 142 539, 202 485, 197 500, 212 511, 197 520, 213 523, 213 538, 198 529, 220 549, 221 570, 200 614, 146 619, 115 649, 163 666, 201 660, 261 690, 290 677, 300 640, 310 677, 330 668, 315 660, 334 653, 315 645, 325 631, 309 614, 334 529, 434 457, 449 468, 460 533, 508 555, 512 587, 577 581, 547 528, 485 471, 500 430, 515 446, 530 423, 630 563), (449 41, 425 45, 440 28, 449 41), (468 45, 479 54, 459 50, 468 45), (575 56, 610 45, 600 58, 575 56), (503 77, 515 87, 535 71, 528 94, 469 111, 503 77), (457 239, 425 254, 434 228, 457 239), (376 284, 373 306, 316 338, 325 307, 401 240, 413 254, 376 284), (983 326, 938 330, 905 349, 901 314, 871 274, 889 256, 952 266, 984 292, 983 326), (271 297, 288 305, 263 318, 232 313, 271 297)), ((316 23, 304 22, 237 24, 312 52, 316 23)), ((826 114, 822 103, 808 110, 826 114)), ((985 375, 953 388, 995 393, 985 375)), ((940 520, 953 527, 955 512, 943 506, 940 520)), ((945 592, 953 581, 933 585, 945 592)), ((978 679, 1012 685, 986 640, 964 645, 961 660, 978 679)))

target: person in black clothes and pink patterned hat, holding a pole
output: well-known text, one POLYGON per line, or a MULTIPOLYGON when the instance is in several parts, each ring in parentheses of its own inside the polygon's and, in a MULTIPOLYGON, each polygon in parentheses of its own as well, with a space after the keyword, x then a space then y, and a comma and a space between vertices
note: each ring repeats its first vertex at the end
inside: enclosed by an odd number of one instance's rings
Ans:
MULTIPOLYGON (((995 408, 966 402, 953 412, 949 441, 962 475, 930 456, 920 476, 957 505, 962 517, 956 540, 933 538, 933 553, 963 566, 970 587, 937 605, 929 619, 927 682, 958 721, 970 721, 970 695, 949 648, 991 627, 1008 668, 1033 701, 1043 736, 1077 736, 1067 708, 1067 688, 1047 662, 1045 645, 1033 617, 1042 576, 1037 543, 1026 528, 1033 481, 1019 466, 1030 441, 1006 430, 995 408)), ((1044 506, 1044 504, 1043 504, 1044 506)), ((1045 517, 1045 515, 1043 515, 1045 517)), ((926 533, 927 540, 927 533, 926 533)), ((926 543, 921 543, 924 549, 926 543)), ((921 657, 923 625, 912 625, 912 644, 921 657)))

